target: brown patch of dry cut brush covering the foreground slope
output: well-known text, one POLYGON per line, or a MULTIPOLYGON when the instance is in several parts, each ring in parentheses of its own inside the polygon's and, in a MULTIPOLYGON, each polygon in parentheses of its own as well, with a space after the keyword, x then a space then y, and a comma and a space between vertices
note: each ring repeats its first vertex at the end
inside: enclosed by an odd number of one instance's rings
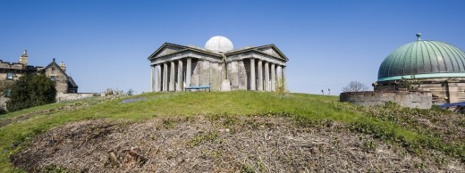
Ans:
POLYGON ((27 171, 82 172, 463 172, 438 152, 351 133, 342 125, 301 128, 283 117, 86 120, 53 128, 12 156, 27 171))

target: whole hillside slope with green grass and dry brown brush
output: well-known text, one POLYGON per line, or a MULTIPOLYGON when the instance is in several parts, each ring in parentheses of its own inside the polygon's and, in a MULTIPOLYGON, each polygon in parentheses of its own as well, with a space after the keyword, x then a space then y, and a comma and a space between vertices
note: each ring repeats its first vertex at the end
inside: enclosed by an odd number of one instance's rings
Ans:
POLYGON ((0 117, 0 169, 460 172, 464 126, 451 112, 322 95, 94 98, 0 117))

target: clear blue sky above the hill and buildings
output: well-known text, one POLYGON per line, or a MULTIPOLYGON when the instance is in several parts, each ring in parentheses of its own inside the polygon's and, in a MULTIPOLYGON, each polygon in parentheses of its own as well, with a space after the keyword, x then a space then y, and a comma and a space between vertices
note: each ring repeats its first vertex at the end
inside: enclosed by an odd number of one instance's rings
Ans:
POLYGON ((292 92, 338 95, 351 80, 371 87, 385 57, 423 39, 465 49, 463 0, 116 1, 0 0, 0 60, 67 64, 80 92, 150 87, 148 55, 165 42, 235 48, 275 44, 290 59, 292 92))

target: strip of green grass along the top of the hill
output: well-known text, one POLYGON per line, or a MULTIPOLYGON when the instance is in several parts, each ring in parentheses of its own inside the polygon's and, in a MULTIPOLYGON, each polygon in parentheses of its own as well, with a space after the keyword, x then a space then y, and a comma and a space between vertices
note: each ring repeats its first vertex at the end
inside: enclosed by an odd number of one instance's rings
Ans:
POLYGON ((141 121, 158 116, 195 116, 195 115, 281 115, 292 116, 303 126, 315 126, 326 121, 338 121, 347 124, 351 130, 371 134, 378 138, 412 147, 431 148, 464 157, 464 147, 447 144, 443 140, 427 134, 418 133, 411 128, 403 128, 392 121, 369 116, 359 111, 347 109, 351 104, 338 103, 337 96, 290 94, 280 97, 265 92, 184 92, 184 93, 148 93, 122 97, 106 102, 88 99, 69 103, 54 103, 23 111, 12 112, 0 117, 0 120, 13 119, 15 116, 33 111, 57 109, 65 105, 89 106, 74 111, 56 111, 42 113, 6 125, 0 128, 0 170, 19 171, 13 168, 8 155, 18 152, 33 136, 50 128, 82 119, 111 119, 118 121, 141 121), (137 102, 122 103, 133 98, 137 102), (429 144, 429 145, 422 145, 429 144), (445 147, 445 149, 444 149, 445 147))

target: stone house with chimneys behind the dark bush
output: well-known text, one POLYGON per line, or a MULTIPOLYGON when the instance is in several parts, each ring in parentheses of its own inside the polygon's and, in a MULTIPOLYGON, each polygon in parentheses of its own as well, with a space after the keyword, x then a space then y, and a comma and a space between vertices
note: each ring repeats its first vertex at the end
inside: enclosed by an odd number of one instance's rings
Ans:
MULTIPOLYGON (((56 81, 56 93, 57 94, 67 94, 67 93, 77 93, 78 86, 74 82, 71 76, 67 75, 66 65, 64 62, 61 62, 58 65, 55 62, 55 58, 46 68, 42 66, 31 66, 28 65, 28 52, 24 50, 20 57, 19 62, 3 62, 0 60, 0 81, 15 81, 23 75, 35 75, 38 73, 45 73, 50 79, 56 81)), ((9 92, 6 90, 4 95, 0 95, 0 107, 6 106, 6 101, 8 98, 9 92)))

